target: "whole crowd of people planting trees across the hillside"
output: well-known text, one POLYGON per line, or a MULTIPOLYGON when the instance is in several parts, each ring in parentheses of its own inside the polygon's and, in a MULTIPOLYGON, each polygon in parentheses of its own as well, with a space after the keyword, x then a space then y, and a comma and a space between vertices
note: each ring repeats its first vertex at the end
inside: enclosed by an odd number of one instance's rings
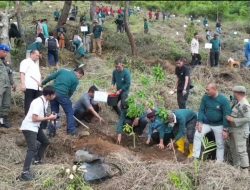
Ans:
MULTIPOLYGON (((77 7, 73 7, 71 11, 75 17, 77 11, 77 7)), ((117 13, 118 17, 119 15, 120 17, 124 16, 121 8, 117 10, 117 13)), ((101 8, 97 7, 96 14, 113 16, 114 11, 112 7, 102 6, 101 8)), ((159 16, 160 12, 157 11, 155 19, 159 19, 159 16)), ((97 17, 99 18, 99 16, 97 17)), ((60 19, 60 13, 54 13, 54 18, 55 20, 60 19)), ((153 13, 150 11, 149 20, 152 19, 153 13)), ((87 26, 86 19, 82 18, 81 22, 87 26)), ((92 31, 85 31, 93 35, 92 52, 98 51, 99 55, 102 54, 103 23, 103 20, 100 23, 100 20, 94 19, 92 31)), ((204 28, 207 28, 208 20, 204 20, 203 24, 204 28)), ((49 145, 48 137, 43 129, 47 126, 48 121, 57 121, 60 118, 60 106, 66 115, 66 133, 68 135, 77 136, 76 119, 91 122, 96 117, 100 123, 105 122, 99 114, 100 105, 94 101, 95 92, 99 90, 96 86, 91 86, 75 104, 71 101, 71 96, 79 85, 79 79, 84 76, 84 70, 82 66, 78 66, 74 70, 59 68, 58 66, 58 52, 65 48, 65 33, 67 30, 64 25, 65 23, 59 26, 56 31, 49 32, 47 19, 39 20, 36 25, 35 41, 27 46, 26 59, 20 63, 20 85, 24 93, 25 113, 20 129, 28 147, 20 179, 25 181, 34 178, 30 172, 31 164, 42 163, 44 152, 49 145), (49 65, 56 66, 55 72, 46 76, 44 80, 42 80, 39 67, 42 48, 48 50, 49 65), (47 85, 50 81, 54 81, 52 86, 47 85), (49 104, 51 113, 47 112, 49 104), (37 141, 40 143, 39 148, 37 148, 37 141)), ((216 27, 221 27, 221 25, 216 27)), ((123 28, 119 26, 117 30, 122 32, 123 28)), ((220 29, 218 31, 221 32, 220 29)), ((144 32, 148 32, 147 19, 144 19, 144 32)), ((214 38, 210 40, 212 44, 210 51, 211 66, 218 65, 221 43, 217 37, 218 34, 216 33, 214 38)), ((192 64, 194 65, 201 64, 198 39, 199 35, 195 33, 191 42, 192 64)), ((79 34, 74 35, 72 44, 80 57, 85 56, 86 52, 90 51, 90 48, 83 45, 83 40, 79 34)), ((248 46, 250 49, 249 43, 248 46)), ((9 118, 11 88, 16 89, 12 70, 5 60, 9 52, 9 46, 0 45, 0 125, 5 128, 11 127, 9 118)), ((249 58, 249 55, 248 52, 246 56, 249 58)), ((128 98, 132 77, 129 69, 125 66, 124 59, 118 57, 115 60, 115 69, 113 73, 110 73, 112 76, 111 88, 115 91, 115 96, 118 97, 117 104, 113 105, 113 110, 119 116, 116 130, 118 144, 122 142, 124 126, 129 124, 137 135, 144 136, 146 134, 146 144, 157 143, 160 149, 165 147, 173 149, 176 146, 177 150, 184 154, 186 152, 185 144, 188 143, 188 158, 200 159, 202 140, 208 132, 213 131, 217 147, 216 160, 218 162, 224 161, 225 141, 229 140, 233 165, 248 172, 247 138, 249 136, 250 105, 246 98, 247 90, 244 86, 232 88, 234 101, 231 101, 232 105, 230 105, 230 101, 219 92, 218 86, 209 83, 206 94, 201 99, 199 111, 196 113, 194 110, 188 109, 186 105, 190 89, 193 88, 190 68, 187 66, 186 58, 178 58, 176 59, 175 69, 177 80, 173 92, 177 93, 179 108, 168 114, 167 121, 162 120, 159 116, 157 107, 148 108, 138 118, 130 118, 127 111, 129 109, 128 98)))

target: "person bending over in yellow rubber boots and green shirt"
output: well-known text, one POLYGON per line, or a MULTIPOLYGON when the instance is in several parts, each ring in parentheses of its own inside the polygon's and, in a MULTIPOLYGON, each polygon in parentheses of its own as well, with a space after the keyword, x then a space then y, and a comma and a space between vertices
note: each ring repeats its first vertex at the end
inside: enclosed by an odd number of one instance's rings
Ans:
POLYGON ((177 131, 177 134, 172 143, 168 144, 168 147, 172 148, 173 143, 175 143, 177 145, 177 150, 181 153, 185 153, 185 142, 188 140, 188 158, 192 158, 196 122, 197 113, 190 109, 177 109, 170 113, 168 116, 168 126, 173 127, 173 131, 177 131))

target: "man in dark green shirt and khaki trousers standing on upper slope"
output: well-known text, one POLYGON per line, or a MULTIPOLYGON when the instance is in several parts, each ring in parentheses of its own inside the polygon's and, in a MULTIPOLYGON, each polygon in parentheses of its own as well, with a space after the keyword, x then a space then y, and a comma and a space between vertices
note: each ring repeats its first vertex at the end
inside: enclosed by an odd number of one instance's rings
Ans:
POLYGON ((93 51, 92 53, 96 52, 96 46, 98 47, 98 54, 102 54, 102 36, 103 36, 103 29, 98 24, 97 20, 94 20, 94 27, 93 27, 93 51))

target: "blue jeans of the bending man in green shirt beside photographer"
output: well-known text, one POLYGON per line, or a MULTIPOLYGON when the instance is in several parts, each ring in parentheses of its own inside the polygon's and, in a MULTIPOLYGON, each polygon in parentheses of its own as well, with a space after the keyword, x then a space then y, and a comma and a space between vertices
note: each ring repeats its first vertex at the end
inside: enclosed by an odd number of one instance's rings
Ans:
POLYGON ((74 111, 72 108, 72 102, 69 97, 63 96, 60 94, 56 94, 56 98, 50 101, 51 111, 55 113, 59 113, 59 106, 61 105, 63 111, 66 114, 67 119, 67 132, 68 133, 75 133, 76 130, 76 123, 74 119, 74 111))

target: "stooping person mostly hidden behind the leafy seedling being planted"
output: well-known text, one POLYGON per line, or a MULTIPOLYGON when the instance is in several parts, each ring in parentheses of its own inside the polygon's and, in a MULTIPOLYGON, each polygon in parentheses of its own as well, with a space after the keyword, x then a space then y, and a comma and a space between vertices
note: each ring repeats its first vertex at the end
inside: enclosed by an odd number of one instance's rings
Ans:
POLYGON ((116 133, 117 133, 117 143, 120 144, 122 140, 123 127, 126 124, 129 124, 133 127, 133 132, 137 135, 142 135, 145 127, 148 124, 146 113, 141 117, 130 118, 127 116, 128 105, 125 102, 125 105, 121 107, 121 115, 117 123, 116 133))

